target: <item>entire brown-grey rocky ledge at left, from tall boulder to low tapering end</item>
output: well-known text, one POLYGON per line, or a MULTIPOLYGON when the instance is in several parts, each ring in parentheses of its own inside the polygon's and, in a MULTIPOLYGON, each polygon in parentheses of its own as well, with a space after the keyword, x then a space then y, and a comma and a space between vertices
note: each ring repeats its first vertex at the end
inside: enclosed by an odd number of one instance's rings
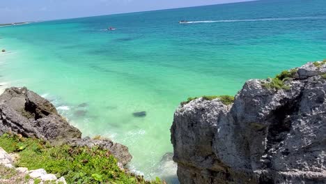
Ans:
POLYGON ((12 87, 0 95, 0 135, 6 132, 44 139, 52 145, 99 146, 109 150, 121 167, 132 159, 127 146, 110 139, 81 139, 81 132, 69 125, 51 102, 25 87, 12 87))

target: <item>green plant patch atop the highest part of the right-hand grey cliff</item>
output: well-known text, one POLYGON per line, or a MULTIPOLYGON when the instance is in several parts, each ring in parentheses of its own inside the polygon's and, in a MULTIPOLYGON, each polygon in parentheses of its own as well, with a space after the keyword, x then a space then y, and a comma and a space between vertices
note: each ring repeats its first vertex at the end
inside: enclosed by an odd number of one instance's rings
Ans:
POLYGON ((290 90, 290 86, 287 86, 286 84, 284 84, 284 82, 293 79, 296 72, 297 69, 284 70, 279 75, 276 75, 274 78, 270 78, 269 82, 263 82, 262 86, 267 89, 290 90))

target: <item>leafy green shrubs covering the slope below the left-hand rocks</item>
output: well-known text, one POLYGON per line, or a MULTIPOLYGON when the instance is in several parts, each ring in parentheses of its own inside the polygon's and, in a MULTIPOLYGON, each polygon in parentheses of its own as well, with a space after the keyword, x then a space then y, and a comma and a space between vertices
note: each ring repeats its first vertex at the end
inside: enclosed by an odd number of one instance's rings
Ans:
POLYGON ((40 139, 8 134, 0 137, 0 147, 20 155, 16 167, 43 168, 57 177, 64 176, 68 183, 164 183, 159 178, 145 181, 122 171, 109 151, 97 147, 51 146, 40 139))

